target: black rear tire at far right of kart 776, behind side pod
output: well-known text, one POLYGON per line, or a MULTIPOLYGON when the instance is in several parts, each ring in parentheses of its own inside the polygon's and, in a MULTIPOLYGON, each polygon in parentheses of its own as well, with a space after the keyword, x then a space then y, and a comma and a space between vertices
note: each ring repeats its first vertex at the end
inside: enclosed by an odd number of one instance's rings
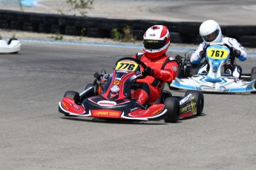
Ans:
POLYGON ((187 96, 189 94, 194 96, 194 101, 197 104, 197 116, 202 115, 203 105, 204 105, 203 92, 200 92, 200 91, 197 91, 197 90, 188 90, 186 92, 185 96, 187 96))

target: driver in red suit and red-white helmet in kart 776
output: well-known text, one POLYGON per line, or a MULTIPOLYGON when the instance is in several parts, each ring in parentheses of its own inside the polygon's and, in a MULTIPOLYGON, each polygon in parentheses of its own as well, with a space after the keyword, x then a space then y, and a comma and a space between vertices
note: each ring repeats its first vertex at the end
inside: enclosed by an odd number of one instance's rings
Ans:
POLYGON ((141 105, 157 101, 163 83, 171 83, 177 76, 177 61, 165 54, 170 46, 170 40, 167 27, 154 25, 143 35, 143 52, 133 56, 147 66, 144 70, 144 75, 147 76, 137 79, 133 84, 135 90, 131 91, 131 98, 135 98, 141 105))

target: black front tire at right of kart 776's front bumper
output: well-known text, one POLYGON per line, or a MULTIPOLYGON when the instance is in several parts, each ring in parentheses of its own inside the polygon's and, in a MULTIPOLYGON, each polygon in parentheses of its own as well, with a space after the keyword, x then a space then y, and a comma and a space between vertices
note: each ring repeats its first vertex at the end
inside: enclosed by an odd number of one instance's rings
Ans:
POLYGON ((177 98, 166 98, 165 109, 167 109, 165 122, 177 123, 180 116, 180 101, 177 98))

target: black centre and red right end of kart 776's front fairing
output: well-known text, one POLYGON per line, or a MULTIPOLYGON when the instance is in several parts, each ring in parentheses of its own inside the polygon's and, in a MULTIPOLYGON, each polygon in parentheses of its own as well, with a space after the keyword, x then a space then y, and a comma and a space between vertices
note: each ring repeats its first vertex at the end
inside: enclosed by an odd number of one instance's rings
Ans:
POLYGON ((159 120, 165 118, 165 105, 154 104, 143 109, 139 103, 130 98, 108 101, 100 95, 85 99, 82 103, 84 116, 93 118, 121 118, 130 120, 159 120))

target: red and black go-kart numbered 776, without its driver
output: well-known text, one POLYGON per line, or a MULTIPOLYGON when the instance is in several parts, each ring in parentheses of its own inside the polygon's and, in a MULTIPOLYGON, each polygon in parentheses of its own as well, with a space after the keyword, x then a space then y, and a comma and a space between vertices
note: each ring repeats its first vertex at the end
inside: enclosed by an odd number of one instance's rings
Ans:
POLYGON ((59 112, 64 115, 92 118, 115 118, 128 120, 165 120, 176 123, 180 118, 201 115, 203 112, 203 93, 188 90, 183 97, 172 96, 162 90, 160 98, 154 103, 141 106, 130 97, 137 78, 144 78, 142 68, 146 65, 135 58, 121 58, 116 61, 113 73, 102 88, 96 78, 80 94, 74 91, 65 93, 59 102, 59 112))

